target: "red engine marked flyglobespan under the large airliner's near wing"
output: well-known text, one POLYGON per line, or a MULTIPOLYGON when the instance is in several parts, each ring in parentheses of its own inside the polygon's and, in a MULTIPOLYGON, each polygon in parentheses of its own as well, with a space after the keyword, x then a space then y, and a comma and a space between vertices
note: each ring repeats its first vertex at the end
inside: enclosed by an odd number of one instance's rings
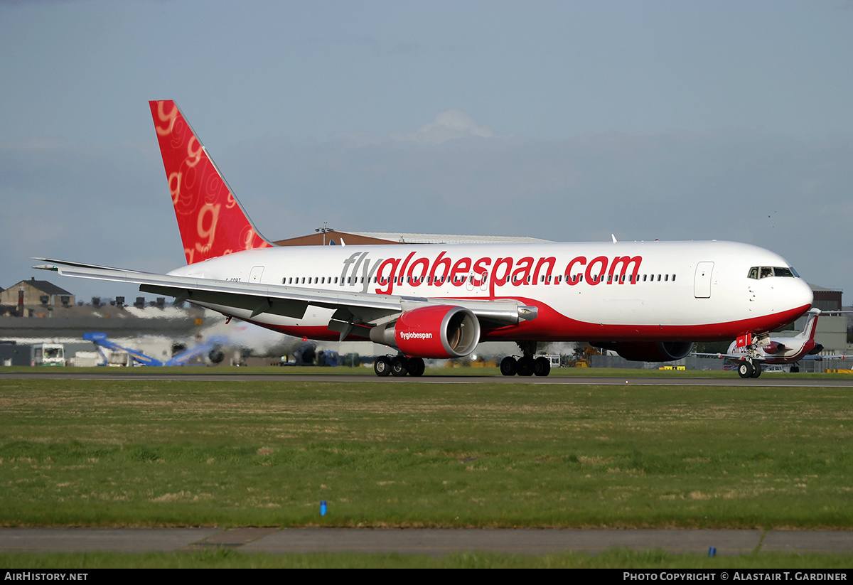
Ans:
POLYGON ((407 310, 397 321, 370 330, 370 339, 391 345, 407 356, 461 357, 479 343, 477 316, 450 305, 432 305, 407 310))

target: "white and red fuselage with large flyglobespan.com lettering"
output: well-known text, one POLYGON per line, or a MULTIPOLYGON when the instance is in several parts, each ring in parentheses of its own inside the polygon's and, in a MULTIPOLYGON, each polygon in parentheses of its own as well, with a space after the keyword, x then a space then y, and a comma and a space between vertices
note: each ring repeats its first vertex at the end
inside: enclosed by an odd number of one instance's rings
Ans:
MULTIPOLYGON (((514 298, 538 316, 483 332, 508 340, 712 340, 780 327, 809 309, 798 276, 750 278, 788 267, 774 252, 728 241, 281 246, 235 252, 171 275, 300 289, 418 298, 514 298)), ((206 304, 242 319, 250 311, 206 304)), ((283 333, 338 339, 333 309, 302 319, 251 321, 283 333)))

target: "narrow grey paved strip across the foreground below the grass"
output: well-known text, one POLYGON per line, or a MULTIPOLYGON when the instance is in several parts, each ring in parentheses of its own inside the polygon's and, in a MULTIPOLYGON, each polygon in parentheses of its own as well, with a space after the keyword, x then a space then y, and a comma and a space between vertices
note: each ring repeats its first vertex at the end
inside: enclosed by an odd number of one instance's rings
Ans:
POLYGON ((399 553, 438 556, 601 553, 610 548, 670 553, 853 553, 853 530, 606 530, 369 528, 0 528, 3 553, 119 553, 229 547, 243 553, 399 553))

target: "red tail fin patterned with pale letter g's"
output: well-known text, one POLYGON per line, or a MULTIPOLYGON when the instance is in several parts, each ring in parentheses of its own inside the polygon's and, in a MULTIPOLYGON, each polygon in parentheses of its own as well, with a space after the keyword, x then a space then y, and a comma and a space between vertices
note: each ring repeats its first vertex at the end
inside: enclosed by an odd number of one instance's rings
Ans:
POLYGON ((258 234, 177 104, 148 103, 187 264, 272 246, 258 234))

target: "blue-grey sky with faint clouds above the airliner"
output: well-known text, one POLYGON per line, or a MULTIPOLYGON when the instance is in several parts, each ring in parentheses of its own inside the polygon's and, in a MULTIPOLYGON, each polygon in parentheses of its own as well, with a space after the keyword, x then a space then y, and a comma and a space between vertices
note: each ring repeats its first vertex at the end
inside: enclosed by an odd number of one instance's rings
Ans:
POLYGON ((853 304, 853 2, 0 0, 0 287, 184 263, 148 100, 271 240, 736 240, 853 304))

